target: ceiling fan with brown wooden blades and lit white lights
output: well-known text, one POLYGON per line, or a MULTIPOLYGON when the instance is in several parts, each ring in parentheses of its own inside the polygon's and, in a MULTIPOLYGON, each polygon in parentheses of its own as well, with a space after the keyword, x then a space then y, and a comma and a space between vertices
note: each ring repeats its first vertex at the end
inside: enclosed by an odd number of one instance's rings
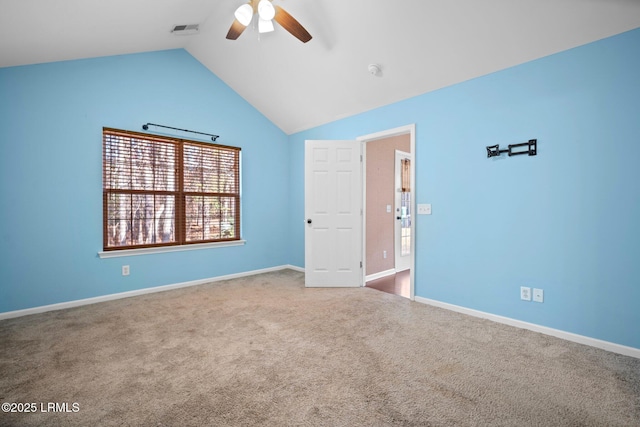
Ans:
POLYGON ((249 26, 254 15, 258 15, 258 32, 260 33, 273 31, 273 20, 275 19, 278 24, 302 43, 311 40, 311 34, 286 10, 280 6, 274 6, 271 0, 249 0, 249 3, 237 8, 234 13, 235 19, 227 33, 227 39, 236 40, 249 26))

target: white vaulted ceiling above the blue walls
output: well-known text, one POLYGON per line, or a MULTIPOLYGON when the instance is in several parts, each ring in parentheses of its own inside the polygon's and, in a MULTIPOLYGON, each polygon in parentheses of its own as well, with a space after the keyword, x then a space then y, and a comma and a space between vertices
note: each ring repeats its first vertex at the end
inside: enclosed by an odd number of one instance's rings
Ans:
POLYGON ((291 134, 640 27, 640 0, 273 0, 310 42, 226 40, 243 2, 0 0, 0 67, 185 48, 291 134))

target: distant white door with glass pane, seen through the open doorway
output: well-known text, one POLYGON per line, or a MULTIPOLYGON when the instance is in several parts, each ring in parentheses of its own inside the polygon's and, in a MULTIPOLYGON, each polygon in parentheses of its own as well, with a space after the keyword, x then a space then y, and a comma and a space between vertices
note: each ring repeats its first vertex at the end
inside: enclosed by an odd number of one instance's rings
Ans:
POLYGON ((411 268, 411 153, 396 150, 395 167, 395 269, 411 268))

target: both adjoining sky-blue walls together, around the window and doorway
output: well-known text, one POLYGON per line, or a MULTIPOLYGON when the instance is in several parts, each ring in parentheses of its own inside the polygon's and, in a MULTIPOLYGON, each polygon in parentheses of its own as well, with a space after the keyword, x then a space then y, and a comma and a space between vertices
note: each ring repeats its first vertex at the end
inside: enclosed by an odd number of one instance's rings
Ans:
POLYGON ((640 348, 639 51, 640 29, 290 137, 183 50, 0 69, 0 312, 303 267, 304 140, 415 123, 416 295, 640 348), (245 246, 97 257, 102 127, 148 121, 242 147, 245 246))

